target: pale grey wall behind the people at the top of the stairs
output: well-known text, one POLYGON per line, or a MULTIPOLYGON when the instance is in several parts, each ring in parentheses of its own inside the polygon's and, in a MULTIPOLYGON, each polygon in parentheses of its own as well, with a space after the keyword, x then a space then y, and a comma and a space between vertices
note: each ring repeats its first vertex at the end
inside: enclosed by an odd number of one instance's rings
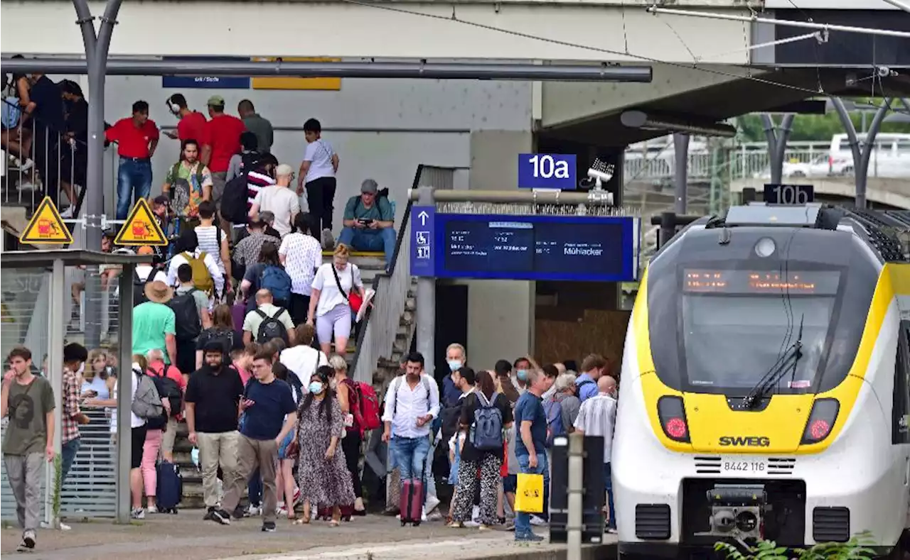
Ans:
MULTIPOLYGON (((159 126, 176 126, 177 118, 167 112, 165 99, 177 92, 187 96, 190 107, 203 111, 209 95, 223 95, 227 111, 234 115, 241 99, 252 100, 260 115, 282 128, 276 132, 272 152, 295 169, 306 144, 303 123, 311 116, 319 118, 323 137, 341 160, 336 224, 345 202, 359 194, 360 182, 367 177, 389 187, 391 198, 399 201, 400 221, 405 206, 401 201, 417 165, 471 165, 470 131, 531 127, 530 84, 435 80, 345 79, 340 91, 177 90, 164 89, 160 77, 112 76, 106 88, 106 120, 113 123, 129 115, 133 102, 144 99, 159 126)), ((162 136, 153 161, 153 193, 160 191, 178 151, 177 140, 162 136)), ((514 157, 490 163, 488 159, 481 156, 480 165, 514 167, 514 157)), ((113 191, 106 193, 108 199, 114 196, 113 191)))

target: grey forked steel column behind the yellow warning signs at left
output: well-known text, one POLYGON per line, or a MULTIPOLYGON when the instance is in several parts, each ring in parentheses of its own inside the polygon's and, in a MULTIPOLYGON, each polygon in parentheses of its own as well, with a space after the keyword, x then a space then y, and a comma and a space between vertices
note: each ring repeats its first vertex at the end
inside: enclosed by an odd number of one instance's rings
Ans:
MULTIPOLYGON (((101 250, 101 215, 104 214, 105 73, 111 35, 122 0, 107 0, 96 34, 95 17, 88 0, 73 0, 76 23, 86 47, 88 90, 88 156, 86 161, 86 249, 101 250)), ((97 266, 86 269, 86 346, 101 342, 101 278, 97 266)), ((121 325, 123 323, 121 322, 121 325)))

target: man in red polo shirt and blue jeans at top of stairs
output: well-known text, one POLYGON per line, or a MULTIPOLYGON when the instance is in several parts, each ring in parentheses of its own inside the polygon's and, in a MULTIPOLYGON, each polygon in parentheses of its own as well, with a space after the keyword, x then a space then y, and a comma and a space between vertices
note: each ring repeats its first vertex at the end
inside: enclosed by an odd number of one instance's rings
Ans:
POLYGON ((136 201, 148 198, 152 190, 152 155, 158 145, 158 127, 148 118, 148 104, 136 101, 133 116, 122 118, 105 132, 108 142, 117 143, 120 167, 116 179, 116 219, 126 220, 136 201))

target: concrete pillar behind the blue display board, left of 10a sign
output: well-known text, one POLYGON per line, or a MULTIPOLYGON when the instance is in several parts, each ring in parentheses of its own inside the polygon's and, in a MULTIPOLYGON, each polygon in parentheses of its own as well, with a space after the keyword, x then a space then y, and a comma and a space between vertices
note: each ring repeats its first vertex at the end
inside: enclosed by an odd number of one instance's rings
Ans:
MULTIPOLYGON (((470 188, 517 188, 516 156, 532 149, 530 131, 478 131, 470 137, 470 188)), ((466 280, 468 285, 468 353, 477 368, 491 369, 496 360, 514 360, 531 351, 534 283, 511 280, 466 280)), ((437 321, 445 320, 444 317, 437 321)))

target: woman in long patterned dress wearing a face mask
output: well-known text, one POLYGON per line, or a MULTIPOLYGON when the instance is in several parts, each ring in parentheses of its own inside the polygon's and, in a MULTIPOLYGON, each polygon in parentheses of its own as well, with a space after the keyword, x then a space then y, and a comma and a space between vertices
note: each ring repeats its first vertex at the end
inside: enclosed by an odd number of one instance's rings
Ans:
POLYGON ((329 381, 335 372, 321 365, 309 381, 309 392, 298 410, 298 486, 303 500, 303 518, 309 523, 311 507, 332 508, 330 526, 338 526, 341 505, 354 504, 354 488, 344 450, 339 440, 344 435, 345 415, 329 381))

